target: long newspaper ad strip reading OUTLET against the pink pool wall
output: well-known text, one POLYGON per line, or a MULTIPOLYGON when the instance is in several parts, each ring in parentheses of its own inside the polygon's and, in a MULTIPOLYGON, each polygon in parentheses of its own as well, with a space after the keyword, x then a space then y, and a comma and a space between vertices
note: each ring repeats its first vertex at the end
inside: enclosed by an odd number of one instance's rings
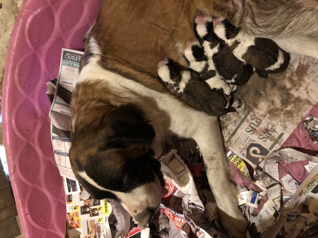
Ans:
POLYGON ((75 83, 79 60, 83 52, 62 49, 59 77, 56 81, 56 93, 52 82, 47 83, 50 95, 55 93, 50 109, 51 135, 55 162, 61 176, 75 180, 71 169, 69 150, 71 147, 71 111, 73 85, 75 83))

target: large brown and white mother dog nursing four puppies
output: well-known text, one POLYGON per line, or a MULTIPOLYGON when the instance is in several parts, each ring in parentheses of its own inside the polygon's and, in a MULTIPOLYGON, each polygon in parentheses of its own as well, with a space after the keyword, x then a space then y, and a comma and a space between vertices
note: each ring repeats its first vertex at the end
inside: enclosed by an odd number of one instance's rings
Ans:
MULTIPOLYGON (((193 138, 202 152, 223 228, 229 237, 245 237, 247 221, 228 173, 218 118, 190 107, 157 79, 163 57, 188 67, 184 54, 189 42, 196 44, 193 20, 199 10, 243 24, 240 10, 246 5, 241 2, 102 2, 71 104, 71 164, 93 197, 117 199, 135 220, 146 224, 160 203, 162 174, 154 157, 164 136, 193 138)), ((257 11, 254 17, 261 14, 257 11)), ((247 31, 249 26, 253 27, 246 20, 247 31)))

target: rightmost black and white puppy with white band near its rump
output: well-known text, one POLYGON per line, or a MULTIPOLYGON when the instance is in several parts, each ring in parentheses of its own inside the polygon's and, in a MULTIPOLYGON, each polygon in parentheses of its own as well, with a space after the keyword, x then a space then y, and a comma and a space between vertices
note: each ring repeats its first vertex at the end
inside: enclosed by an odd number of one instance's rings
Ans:
POLYGON ((223 17, 214 17, 213 27, 214 33, 225 41, 233 54, 254 67, 260 77, 266 78, 268 74, 279 74, 287 69, 290 54, 274 41, 247 35, 223 17))

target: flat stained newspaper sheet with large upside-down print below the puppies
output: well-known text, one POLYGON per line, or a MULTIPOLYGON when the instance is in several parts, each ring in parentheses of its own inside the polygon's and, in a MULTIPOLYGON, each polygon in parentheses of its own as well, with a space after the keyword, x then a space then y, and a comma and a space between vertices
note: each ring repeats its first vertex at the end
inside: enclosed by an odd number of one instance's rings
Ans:
POLYGON ((254 74, 239 87, 244 110, 221 120, 229 149, 252 166, 262 167, 318 101, 318 83, 313 83, 317 80, 310 80, 318 77, 317 67, 317 59, 292 55, 286 72, 266 79, 254 74))

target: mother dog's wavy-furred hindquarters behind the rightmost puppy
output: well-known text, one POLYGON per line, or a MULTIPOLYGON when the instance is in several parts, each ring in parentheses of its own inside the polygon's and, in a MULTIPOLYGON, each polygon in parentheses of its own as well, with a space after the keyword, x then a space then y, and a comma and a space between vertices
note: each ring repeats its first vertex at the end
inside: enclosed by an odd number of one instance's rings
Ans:
POLYGON ((318 58, 317 0, 211 0, 211 4, 212 15, 222 15, 244 33, 272 39, 289 53, 318 58))

